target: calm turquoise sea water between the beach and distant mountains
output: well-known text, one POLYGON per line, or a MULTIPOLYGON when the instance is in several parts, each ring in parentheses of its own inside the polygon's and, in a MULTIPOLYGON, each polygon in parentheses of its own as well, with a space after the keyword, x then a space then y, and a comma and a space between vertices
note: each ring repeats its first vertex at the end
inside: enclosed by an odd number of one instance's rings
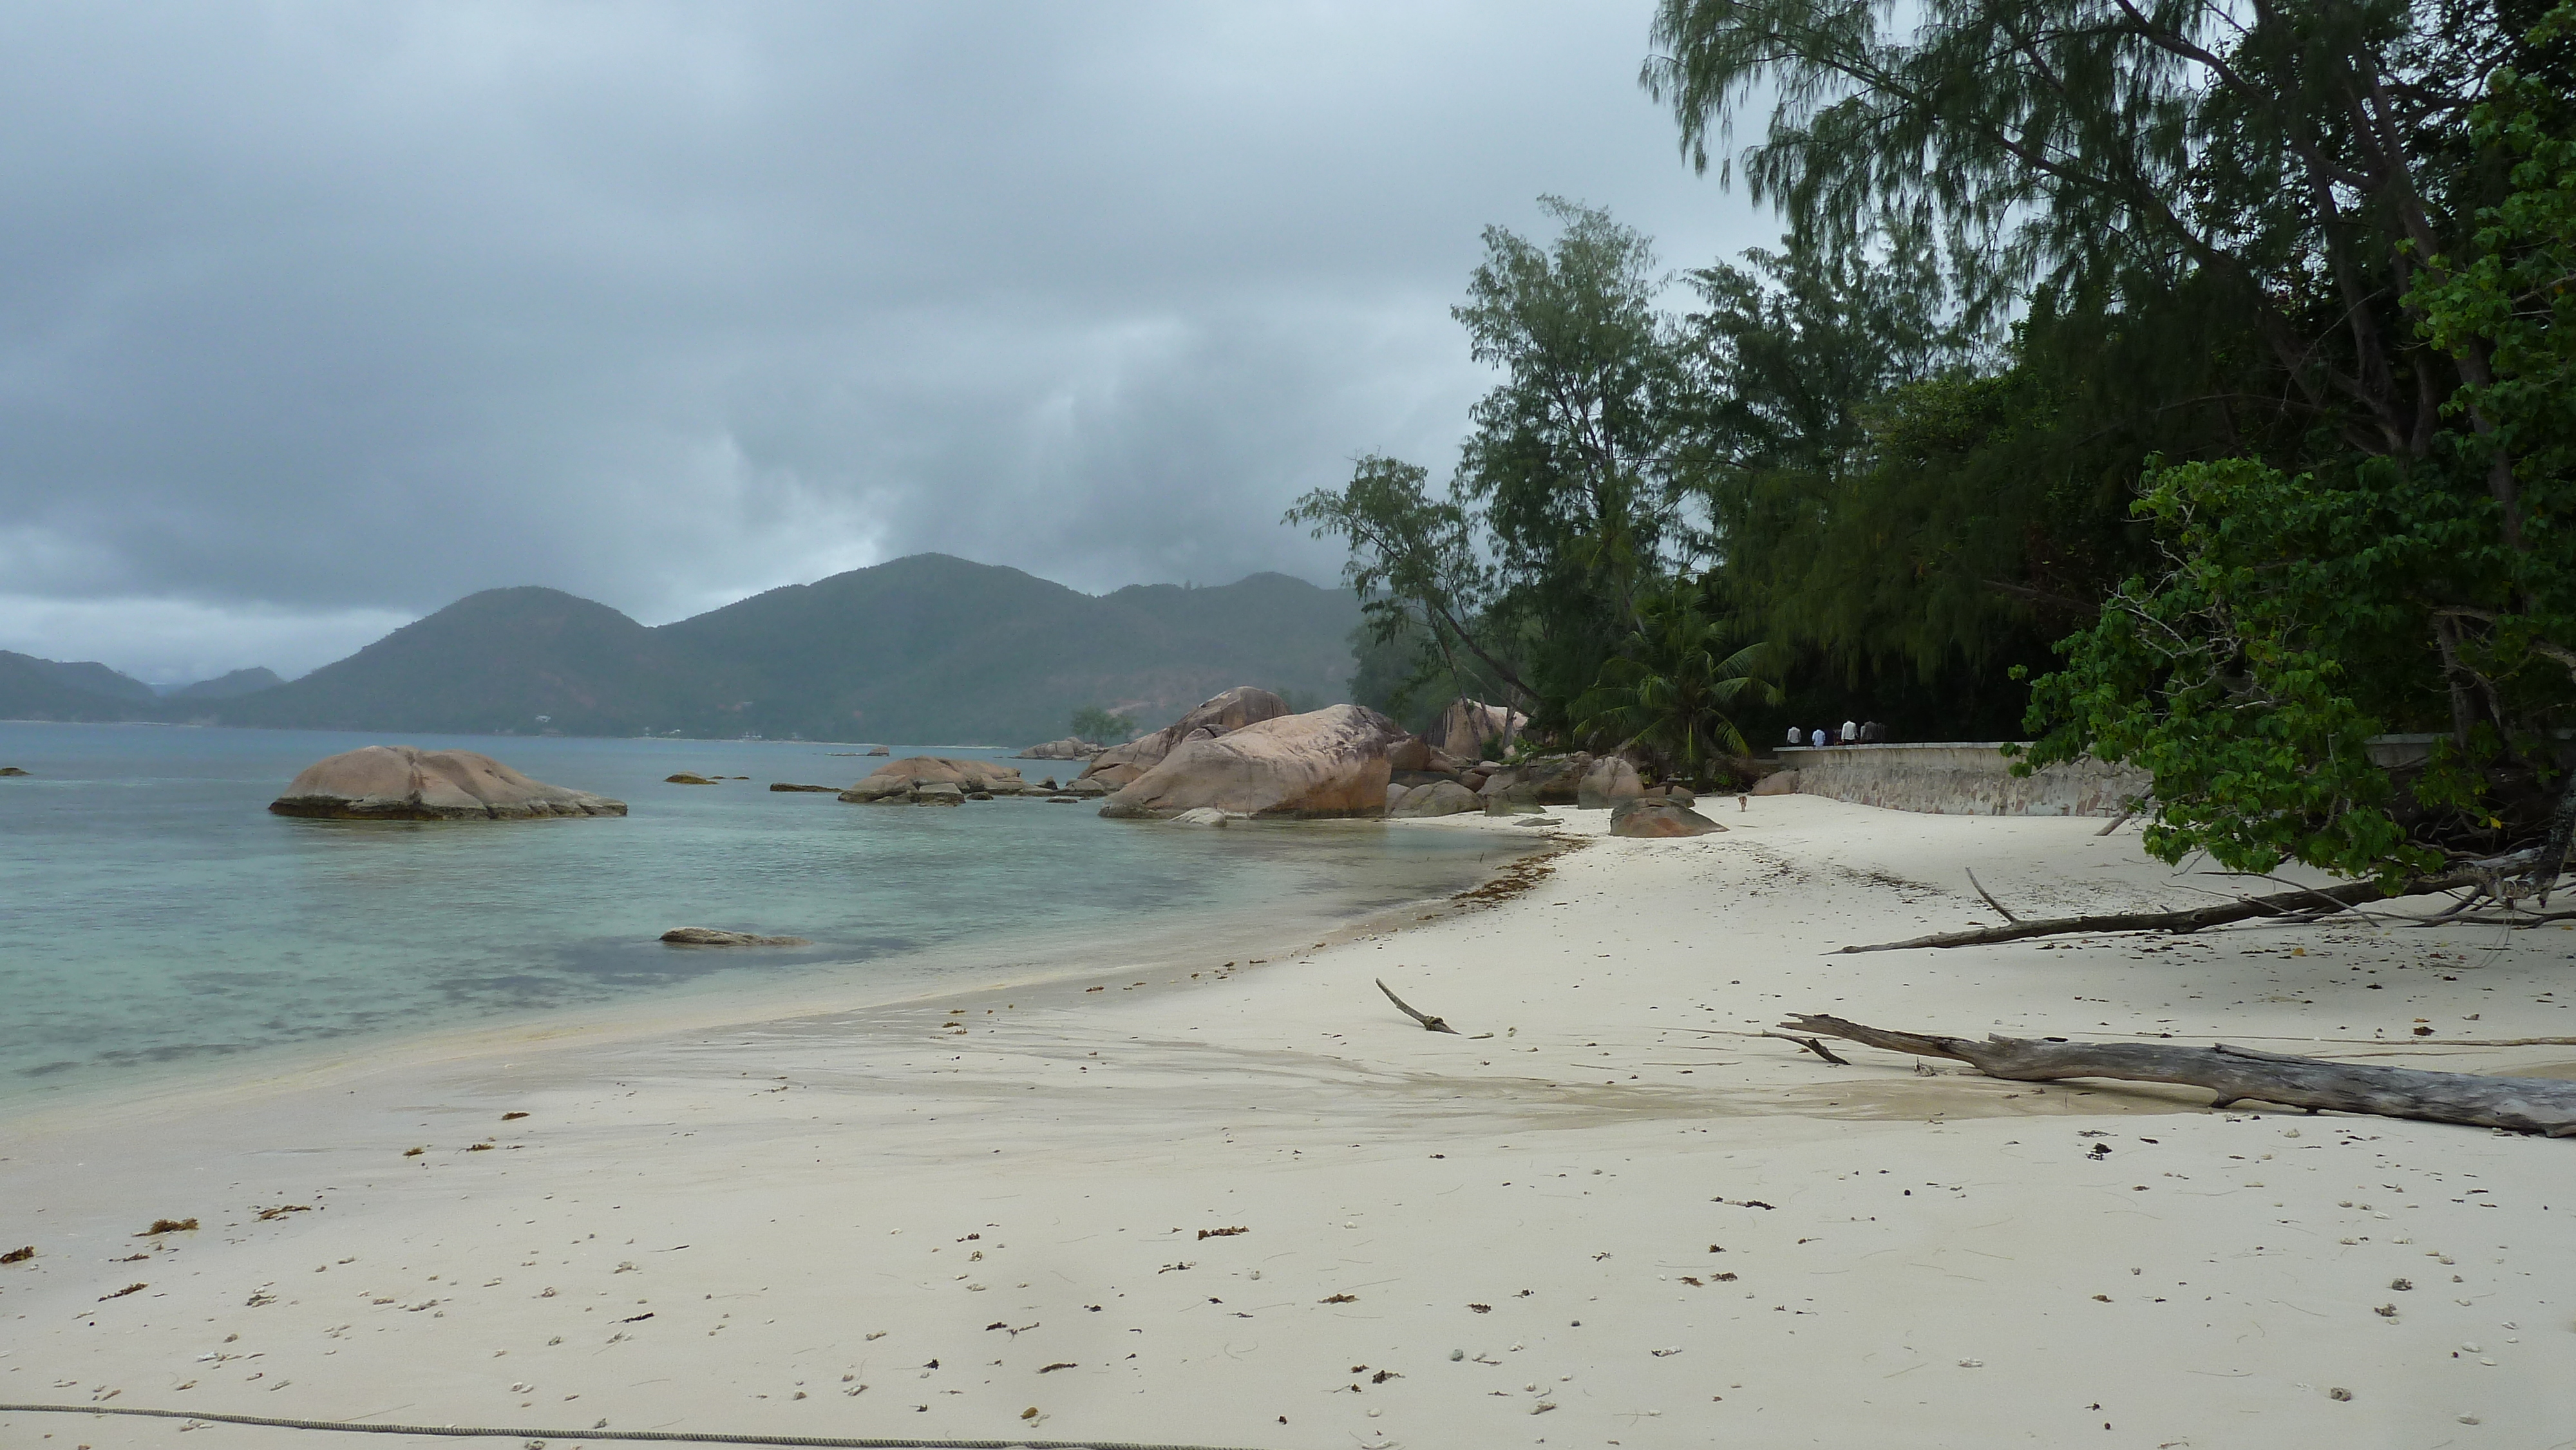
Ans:
POLYGON ((0 765, 31 770, 0 780, 0 1102, 574 1007, 1108 966, 1097 953, 1123 937, 1247 917, 1306 932, 1499 860, 1481 834, 1373 822, 1211 832, 1033 798, 842 806, 768 783, 848 786, 878 762, 788 742, 402 737, 631 814, 268 814, 304 765, 384 739, 0 721, 0 765), (750 780, 665 786, 677 770, 750 780), (677 925, 814 945, 654 940, 677 925))

